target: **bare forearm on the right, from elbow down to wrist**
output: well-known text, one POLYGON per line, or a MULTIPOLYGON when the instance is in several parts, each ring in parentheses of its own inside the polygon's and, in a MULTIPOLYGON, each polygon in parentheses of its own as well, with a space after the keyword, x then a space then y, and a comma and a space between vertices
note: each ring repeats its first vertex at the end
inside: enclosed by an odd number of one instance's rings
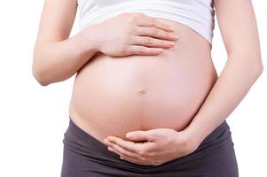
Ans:
MULTIPOLYGON (((236 57, 243 59, 241 56, 236 57)), ((198 145, 240 104, 263 71, 262 65, 242 63, 233 58, 235 56, 229 57, 199 112, 185 128, 192 141, 198 145)))

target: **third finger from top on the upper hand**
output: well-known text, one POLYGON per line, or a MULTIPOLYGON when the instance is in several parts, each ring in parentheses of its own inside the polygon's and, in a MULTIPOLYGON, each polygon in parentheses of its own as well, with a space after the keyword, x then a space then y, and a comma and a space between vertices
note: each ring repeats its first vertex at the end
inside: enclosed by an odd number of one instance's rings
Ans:
POLYGON ((170 48, 175 45, 175 42, 156 39, 149 36, 134 36, 130 44, 144 45, 148 47, 157 47, 157 48, 170 48))

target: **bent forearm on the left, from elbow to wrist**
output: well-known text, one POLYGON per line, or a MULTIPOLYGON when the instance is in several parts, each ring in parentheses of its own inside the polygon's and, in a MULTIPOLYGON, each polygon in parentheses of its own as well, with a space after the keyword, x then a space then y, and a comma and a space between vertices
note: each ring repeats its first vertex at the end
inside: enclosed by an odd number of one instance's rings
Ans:
POLYGON ((64 81, 75 74, 98 50, 80 32, 64 41, 35 46, 32 72, 40 84, 64 81))

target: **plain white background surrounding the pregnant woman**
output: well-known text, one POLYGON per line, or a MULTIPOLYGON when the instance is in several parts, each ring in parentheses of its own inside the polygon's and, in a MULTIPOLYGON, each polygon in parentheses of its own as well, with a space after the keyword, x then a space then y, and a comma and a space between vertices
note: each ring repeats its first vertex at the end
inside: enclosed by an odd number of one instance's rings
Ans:
MULTIPOLYGON (((264 1, 253 3, 265 66, 266 6, 264 1)), ((61 169, 62 140, 68 125, 74 76, 67 81, 43 87, 31 73, 42 8, 43 1, 2 1, 0 5, 1 177, 59 177, 61 169)), ((72 35, 77 32, 75 21, 72 35)), ((227 56, 217 24, 214 34, 212 56, 220 73, 227 56)), ((227 118, 240 177, 267 176, 266 76, 264 71, 227 118)))

